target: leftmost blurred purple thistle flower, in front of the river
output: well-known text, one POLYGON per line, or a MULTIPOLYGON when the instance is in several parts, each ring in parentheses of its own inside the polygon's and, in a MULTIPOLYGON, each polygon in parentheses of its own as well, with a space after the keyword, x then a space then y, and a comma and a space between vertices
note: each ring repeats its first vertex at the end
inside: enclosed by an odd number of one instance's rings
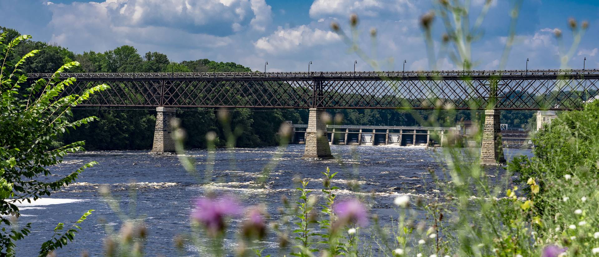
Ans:
POLYGON ((216 237, 225 229, 225 217, 236 216, 240 210, 240 205, 233 198, 200 198, 196 202, 192 218, 204 224, 208 235, 216 237))

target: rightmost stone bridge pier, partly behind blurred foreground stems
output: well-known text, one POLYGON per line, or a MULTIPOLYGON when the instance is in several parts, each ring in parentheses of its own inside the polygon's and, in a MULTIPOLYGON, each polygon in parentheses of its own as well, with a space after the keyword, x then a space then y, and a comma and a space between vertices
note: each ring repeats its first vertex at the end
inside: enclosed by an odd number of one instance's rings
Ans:
POLYGON ((480 161, 483 165, 506 164, 501 148, 500 111, 485 111, 485 128, 483 130, 480 161))

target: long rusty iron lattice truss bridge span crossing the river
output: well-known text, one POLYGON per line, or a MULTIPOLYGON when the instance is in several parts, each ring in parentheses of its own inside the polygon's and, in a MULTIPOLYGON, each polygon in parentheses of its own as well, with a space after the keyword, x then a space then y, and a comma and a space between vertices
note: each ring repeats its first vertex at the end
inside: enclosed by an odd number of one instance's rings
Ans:
MULTIPOLYGON (((30 80, 52 74, 29 74, 30 80)), ((111 88, 83 106, 576 110, 599 69, 385 72, 72 73, 63 94, 111 88)))

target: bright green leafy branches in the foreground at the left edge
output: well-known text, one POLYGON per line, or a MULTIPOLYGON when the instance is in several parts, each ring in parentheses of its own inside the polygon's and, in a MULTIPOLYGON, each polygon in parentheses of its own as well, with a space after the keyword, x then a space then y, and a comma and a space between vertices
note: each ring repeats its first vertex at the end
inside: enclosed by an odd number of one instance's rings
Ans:
MULTIPOLYGON (((83 170, 96 164, 89 162, 53 182, 40 180, 40 177, 50 175, 47 167, 59 164, 67 153, 83 150, 83 141, 62 147, 55 147, 54 144, 55 140, 69 129, 96 119, 86 117, 71 121, 71 107, 85 101, 93 93, 107 89, 108 86, 102 84, 86 90, 81 95, 59 97, 65 87, 74 82, 73 78, 60 78, 60 73, 77 66, 78 63, 62 65, 48 81, 28 81, 22 65, 39 51, 32 50, 19 61, 11 62, 7 58, 14 48, 31 36, 20 35, 11 41, 6 41, 6 38, 7 33, 0 35, 0 255, 14 256, 16 241, 31 233, 31 223, 25 228, 17 227, 17 218, 20 216, 17 204, 50 196, 52 192, 74 182, 83 170), (29 82, 31 86, 22 88, 29 82)), ((40 256, 46 256, 72 241, 74 234, 81 229, 77 224, 83 222, 91 211, 93 210, 83 214, 66 231, 63 231, 65 225, 59 223, 52 238, 41 246, 40 256)))

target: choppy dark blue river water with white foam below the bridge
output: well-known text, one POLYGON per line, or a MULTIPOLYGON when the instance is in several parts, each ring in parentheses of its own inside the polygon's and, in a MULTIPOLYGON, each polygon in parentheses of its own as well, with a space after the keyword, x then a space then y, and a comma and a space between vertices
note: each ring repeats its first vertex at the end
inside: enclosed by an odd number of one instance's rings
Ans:
MULTIPOLYGON (((60 179, 89 161, 99 164, 84 171, 77 183, 54 193, 51 198, 21 205, 23 216, 19 223, 32 222, 33 228, 32 235, 19 242, 17 256, 37 256, 41 243, 50 238, 57 223, 69 225, 89 209, 95 211, 83 223, 75 241, 57 253, 58 256, 81 256, 85 251, 90 256, 102 256, 107 226, 118 231, 122 223, 99 193, 102 186, 108 186, 114 198, 119 199, 123 213, 144 219, 148 228, 144 247, 147 256, 176 256, 173 237, 189 232, 193 202, 207 191, 235 195, 244 206, 267 204, 269 213, 274 214, 281 206, 282 195, 295 201, 294 188, 298 184, 294 178, 306 178, 310 180, 308 187, 320 189, 321 173, 329 167, 332 172, 338 172, 332 181, 341 188, 335 192, 338 199, 364 196, 370 213, 379 214, 384 222, 394 212, 395 196, 403 193, 425 199, 434 196, 436 189, 427 176, 428 169, 438 170, 443 166, 435 158, 437 153, 426 147, 331 146, 336 159, 326 161, 299 159, 303 151, 302 145, 287 147, 276 159, 278 162, 270 176, 262 177, 262 169, 273 160, 277 147, 217 150, 208 183, 187 173, 177 156, 149 155, 147 151, 133 150, 69 155, 62 164, 52 167, 54 174, 45 179, 60 179), (265 179, 265 186, 256 183, 260 179, 265 179), (348 185, 352 180, 358 181, 357 190, 348 185)), ((530 155, 530 150, 505 151, 507 159, 530 155)), ((187 155, 195 160, 203 177, 207 151, 189 150, 187 155)), ((493 173, 495 171, 489 171, 493 173)), ((276 214, 273 219, 277 219, 276 214)), ((234 220, 231 226, 240 226, 240 220, 234 220)), ((267 248, 265 252, 272 252, 277 247, 275 242, 271 233, 261 244, 267 248)), ((226 243, 234 247, 234 240, 226 243)), ((184 255, 202 254, 195 247, 186 246, 184 255)))

